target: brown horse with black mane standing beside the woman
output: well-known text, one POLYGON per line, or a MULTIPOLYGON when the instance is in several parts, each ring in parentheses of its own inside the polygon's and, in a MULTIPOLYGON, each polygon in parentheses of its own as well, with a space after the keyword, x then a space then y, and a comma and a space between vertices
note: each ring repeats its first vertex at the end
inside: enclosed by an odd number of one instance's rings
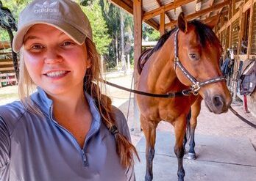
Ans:
POLYGON ((152 51, 147 53, 138 90, 154 94, 186 91, 183 92, 184 96, 173 98, 136 96, 141 111, 141 127, 146 137, 145 180, 153 179, 156 128, 161 120, 174 126, 177 175, 178 180, 182 181, 185 176, 182 165, 185 119, 190 108, 192 117, 199 114, 196 106, 193 106, 196 99, 200 99, 196 95, 199 94, 215 114, 226 112, 230 106, 230 92, 219 68, 222 49, 212 27, 210 23, 188 22, 180 14, 177 28, 164 34, 152 51))

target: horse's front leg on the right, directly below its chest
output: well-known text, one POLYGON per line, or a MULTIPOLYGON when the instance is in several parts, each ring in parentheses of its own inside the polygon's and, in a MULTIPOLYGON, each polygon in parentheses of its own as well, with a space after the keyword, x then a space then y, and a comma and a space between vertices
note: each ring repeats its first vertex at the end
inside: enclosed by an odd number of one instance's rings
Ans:
POLYGON ((183 139, 185 136, 185 115, 175 120, 174 132, 176 138, 174 152, 178 159, 178 181, 184 181, 185 171, 183 169, 183 156, 185 151, 183 147, 183 139))

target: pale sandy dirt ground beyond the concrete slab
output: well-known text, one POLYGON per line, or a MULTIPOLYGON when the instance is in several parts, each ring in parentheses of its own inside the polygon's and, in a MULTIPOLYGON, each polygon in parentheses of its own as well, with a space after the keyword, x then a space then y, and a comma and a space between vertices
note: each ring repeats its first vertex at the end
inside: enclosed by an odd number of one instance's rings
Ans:
MULTIPOLYGON (((126 86, 130 88, 132 84, 132 75, 124 75, 122 73, 111 73, 106 74, 105 78, 108 81, 113 82, 114 84, 119 84, 121 86, 126 86)), ((17 86, 7 86, 0 88, 0 105, 5 103, 10 103, 13 100, 18 99, 18 90, 17 86)), ((113 105, 120 108, 123 111, 125 117, 127 117, 127 112, 129 108, 129 117, 128 125, 130 130, 133 130, 135 121, 133 119, 133 95, 130 95, 129 92, 125 92, 120 89, 116 89, 111 86, 107 86, 107 93, 113 100, 113 105), (131 97, 130 97, 131 96, 131 97), (131 101, 129 103, 129 97, 131 101), (130 106, 129 106, 130 105, 130 106)), ((242 103, 232 103, 232 107, 235 111, 238 111, 238 114, 241 114, 244 118, 253 122, 256 125, 256 117, 250 113, 245 113, 242 103)), ((166 130, 174 132, 172 126, 168 122, 160 122, 160 125, 157 127, 157 130, 166 130)), ((138 141, 143 136, 143 133, 132 133, 132 142, 137 144, 138 141)), ((196 134, 202 134, 207 136, 224 136, 224 137, 246 137, 251 141, 256 150, 256 129, 250 127, 245 122, 242 122, 241 119, 232 114, 231 111, 228 111, 225 114, 212 114, 205 107, 205 103, 202 102, 202 111, 198 118, 198 124, 196 127, 196 134)))

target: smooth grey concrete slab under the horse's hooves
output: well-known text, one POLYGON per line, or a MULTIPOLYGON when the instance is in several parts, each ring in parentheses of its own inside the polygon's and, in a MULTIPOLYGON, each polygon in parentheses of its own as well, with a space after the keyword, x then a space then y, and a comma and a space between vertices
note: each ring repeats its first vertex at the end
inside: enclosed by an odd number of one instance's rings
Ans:
MULTIPOLYGON (((256 152, 248 138, 196 135, 196 160, 184 159, 186 181, 255 181, 256 152)), ((157 132, 153 164, 154 180, 177 180, 174 135, 157 132)), ((137 144, 141 163, 135 164, 136 179, 146 171, 145 138, 137 144)))

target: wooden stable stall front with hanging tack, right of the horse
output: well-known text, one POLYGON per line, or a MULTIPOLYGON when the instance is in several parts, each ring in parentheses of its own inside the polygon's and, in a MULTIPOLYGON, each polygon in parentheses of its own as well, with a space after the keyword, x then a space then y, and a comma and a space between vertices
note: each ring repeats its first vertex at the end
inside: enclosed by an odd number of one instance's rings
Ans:
POLYGON ((242 100, 245 111, 251 111, 256 115, 255 0, 233 0, 229 7, 228 14, 221 15, 220 19, 223 21, 218 21, 215 29, 225 50, 223 59, 227 58, 227 50, 232 52, 232 70, 228 85, 233 100, 242 100), (248 79, 246 83, 243 81, 244 78, 248 79))

